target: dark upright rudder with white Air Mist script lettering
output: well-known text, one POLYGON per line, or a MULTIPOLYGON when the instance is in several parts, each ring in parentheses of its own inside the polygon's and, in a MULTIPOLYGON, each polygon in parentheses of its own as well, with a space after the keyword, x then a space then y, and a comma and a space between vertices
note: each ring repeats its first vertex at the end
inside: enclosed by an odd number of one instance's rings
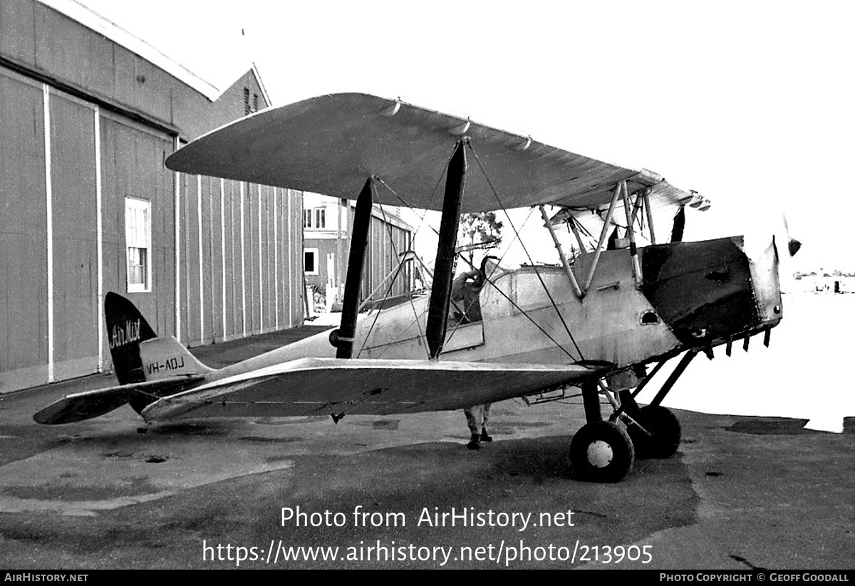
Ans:
POLYGON ((157 334, 132 302, 113 292, 104 297, 104 319, 107 320, 109 353, 119 384, 144 382, 139 343, 154 339, 157 334))

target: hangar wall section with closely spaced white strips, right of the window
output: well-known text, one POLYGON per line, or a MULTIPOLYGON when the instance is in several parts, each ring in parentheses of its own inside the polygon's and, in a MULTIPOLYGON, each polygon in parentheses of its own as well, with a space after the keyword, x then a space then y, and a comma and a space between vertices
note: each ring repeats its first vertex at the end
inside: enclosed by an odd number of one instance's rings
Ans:
POLYGON ((182 342, 300 325, 302 194, 195 175, 180 185, 182 342))

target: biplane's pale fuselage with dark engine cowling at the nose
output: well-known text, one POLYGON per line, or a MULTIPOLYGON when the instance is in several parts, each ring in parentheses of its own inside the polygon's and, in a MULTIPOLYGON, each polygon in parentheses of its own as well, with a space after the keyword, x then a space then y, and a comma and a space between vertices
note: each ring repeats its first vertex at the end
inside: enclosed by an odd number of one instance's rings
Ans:
MULTIPOLYGON (((461 312, 451 309, 440 360, 608 364, 620 370, 750 336, 781 320, 772 244, 756 258, 746 254, 741 237, 658 244, 640 248, 639 255, 637 279, 628 249, 604 251, 582 299, 561 267, 495 272, 476 296, 480 320, 463 323, 461 312)), ((578 279, 592 262, 592 254, 575 259, 578 279)), ((427 296, 360 314, 354 357, 427 360, 427 318, 427 296)), ((210 379, 299 358, 332 358, 328 337, 317 334, 210 379)))

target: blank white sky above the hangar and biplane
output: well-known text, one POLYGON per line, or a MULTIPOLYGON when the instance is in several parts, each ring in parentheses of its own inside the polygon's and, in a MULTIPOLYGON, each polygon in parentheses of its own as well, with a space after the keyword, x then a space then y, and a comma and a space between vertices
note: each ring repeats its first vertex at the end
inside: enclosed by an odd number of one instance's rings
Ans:
MULTIPOLYGON (((81 0, 274 105, 361 91, 648 168, 712 201, 687 236, 789 231, 855 271, 855 3, 81 0)), ((544 259, 546 260, 546 259, 544 259)))

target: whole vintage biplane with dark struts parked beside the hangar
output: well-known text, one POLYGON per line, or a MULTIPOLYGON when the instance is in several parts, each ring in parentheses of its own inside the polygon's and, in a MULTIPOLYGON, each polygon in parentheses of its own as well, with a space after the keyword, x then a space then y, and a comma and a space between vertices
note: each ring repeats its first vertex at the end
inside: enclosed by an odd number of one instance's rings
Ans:
POLYGON ((705 197, 657 173, 399 99, 338 94, 270 108, 186 144, 166 165, 356 199, 341 324, 213 370, 109 293, 104 312, 119 385, 66 396, 36 413, 39 423, 88 419, 126 403, 147 421, 307 414, 338 421, 512 397, 548 401, 578 388, 587 423, 569 446, 575 475, 614 482, 636 456, 677 450, 680 424, 661 403, 696 355, 722 344, 729 355, 738 340, 747 349, 761 333, 768 345, 782 316, 774 239, 752 254, 742 237, 681 241, 686 209, 708 208, 705 197), (441 213, 433 284, 429 294, 359 314, 374 205, 441 213), (510 208, 539 211, 560 264, 510 269, 492 259, 469 267, 471 282, 452 286, 463 258, 461 214, 510 208), (676 211, 671 238, 658 242, 654 217, 668 211, 676 211), (557 237, 565 227, 575 238, 569 251, 557 237), (640 390, 679 355, 652 402, 640 406, 640 390))

